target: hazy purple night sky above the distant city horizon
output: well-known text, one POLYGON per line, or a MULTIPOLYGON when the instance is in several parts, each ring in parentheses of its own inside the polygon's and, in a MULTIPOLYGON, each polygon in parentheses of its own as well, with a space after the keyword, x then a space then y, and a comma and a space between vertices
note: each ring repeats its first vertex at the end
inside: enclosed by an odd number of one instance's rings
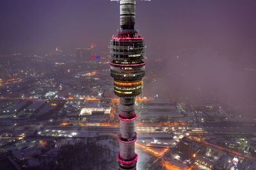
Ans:
MULTIPOLYGON (((150 50, 163 52, 172 46, 241 52, 256 43, 255 9, 254 0, 137 1, 136 29, 150 50)), ((2 0, 0 52, 90 43, 108 51, 109 39, 119 27, 118 13, 118 3, 108 0, 2 0)))

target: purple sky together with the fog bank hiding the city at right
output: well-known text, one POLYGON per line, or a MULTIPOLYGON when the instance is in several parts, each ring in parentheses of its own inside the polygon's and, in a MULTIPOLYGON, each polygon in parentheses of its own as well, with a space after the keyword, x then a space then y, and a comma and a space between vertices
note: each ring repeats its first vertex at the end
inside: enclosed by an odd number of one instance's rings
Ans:
MULTIPOLYGON (((1 4, 0 54, 44 55, 56 46, 72 52, 94 43, 95 53, 109 55, 108 39, 118 27, 118 3, 1 4)), ((255 100, 255 5, 255 1, 138 1, 136 26, 147 37, 147 59, 166 61, 159 67, 163 69, 159 78, 173 70, 180 73, 173 82, 163 81, 159 92, 164 94, 171 87, 171 94, 184 97, 211 94, 236 102, 255 100)))

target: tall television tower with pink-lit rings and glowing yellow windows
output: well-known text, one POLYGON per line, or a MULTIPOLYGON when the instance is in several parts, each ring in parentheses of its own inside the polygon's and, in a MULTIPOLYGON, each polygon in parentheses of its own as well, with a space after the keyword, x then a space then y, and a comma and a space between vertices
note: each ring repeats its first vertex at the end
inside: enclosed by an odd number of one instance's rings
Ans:
POLYGON ((136 169, 138 155, 134 152, 137 134, 134 120, 135 97, 141 94, 145 75, 145 45, 143 37, 137 35, 135 25, 136 0, 120 0, 120 26, 118 35, 111 39, 111 76, 114 92, 120 97, 120 152, 117 155, 118 169, 136 169))

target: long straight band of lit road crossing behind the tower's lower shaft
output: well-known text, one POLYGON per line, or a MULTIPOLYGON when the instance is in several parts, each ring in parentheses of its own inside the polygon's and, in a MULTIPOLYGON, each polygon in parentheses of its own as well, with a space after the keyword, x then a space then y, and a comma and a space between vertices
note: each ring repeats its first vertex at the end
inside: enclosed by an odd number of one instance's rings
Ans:
MULTIPOLYGON (((29 122, 24 122, 24 120, 15 120, 14 122, 17 123, 19 126, 17 128, 21 129, 39 129, 41 126, 36 125, 39 122, 36 119, 30 119, 29 122), (31 124, 31 125, 28 125, 31 124)), ((7 123, 4 121, 0 122, 0 127, 3 127, 4 129, 13 129, 14 123, 7 123)), ((75 129, 75 130, 81 130, 81 129, 90 129, 91 131, 106 131, 106 128, 109 127, 110 129, 116 129, 118 130, 118 123, 80 123, 73 125, 72 122, 63 122, 58 125, 43 125, 43 129, 75 129)), ((177 132, 179 133, 189 133, 189 134, 205 134, 205 133, 222 133, 222 134, 230 134, 230 128, 223 129, 221 127, 209 127, 209 128, 198 128, 198 127, 186 127, 183 123, 172 123, 168 124, 171 127, 175 127, 175 131, 170 131, 171 133, 177 132), (173 125, 173 126, 171 126, 173 125), (180 125, 183 125, 183 127, 180 127, 180 125), (176 127, 177 126, 177 127, 176 127)), ((138 134, 152 134, 152 133, 159 133, 168 132, 169 126, 162 126, 162 124, 157 123, 136 123, 136 131, 138 134)), ((234 130, 233 130, 234 131, 234 130)), ((256 131, 255 127, 241 127, 239 129, 236 129, 236 132, 232 132, 231 134, 252 134, 256 131)))

